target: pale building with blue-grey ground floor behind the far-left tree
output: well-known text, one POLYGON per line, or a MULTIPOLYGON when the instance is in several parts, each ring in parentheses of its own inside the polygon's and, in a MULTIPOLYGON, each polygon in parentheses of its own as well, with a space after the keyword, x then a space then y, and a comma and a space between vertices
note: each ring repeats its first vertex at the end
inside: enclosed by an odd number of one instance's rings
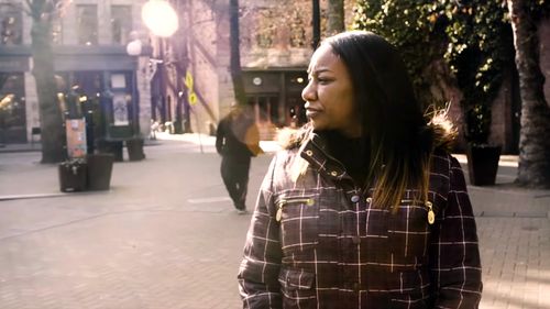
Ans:
MULTIPOLYGON (((90 104, 99 104, 102 96, 110 93, 113 113, 107 117, 106 134, 112 139, 128 135, 129 126, 140 128, 140 118, 142 134, 150 128, 150 84, 138 70, 147 60, 130 56, 125 49, 131 33, 144 31, 143 2, 73 0, 57 12, 53 23, 58 93, 78 87, 82 102, 90 104)), ((40 128, 32 75, 32 20, 26 5, 26 1, 0 0, 0 143, 25 143, 35 139, 33 133, 40 128)))

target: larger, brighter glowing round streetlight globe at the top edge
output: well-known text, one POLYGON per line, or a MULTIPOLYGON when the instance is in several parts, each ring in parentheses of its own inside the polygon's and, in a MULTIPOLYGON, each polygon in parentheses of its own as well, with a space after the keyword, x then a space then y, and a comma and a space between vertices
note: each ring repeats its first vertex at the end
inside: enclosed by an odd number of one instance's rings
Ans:
POLYGON ((177 13, 164 0, 150 0, 143 4, 141 18, 154 35, 168 37, 179 27, 177 13))

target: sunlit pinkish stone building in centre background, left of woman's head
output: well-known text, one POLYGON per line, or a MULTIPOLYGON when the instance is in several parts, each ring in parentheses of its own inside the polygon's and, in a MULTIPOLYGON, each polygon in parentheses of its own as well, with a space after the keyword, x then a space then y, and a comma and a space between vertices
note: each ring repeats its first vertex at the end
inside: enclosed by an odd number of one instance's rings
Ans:
MULTIPOLYGON (((161 122, 177 121, 176 107, 190 103, 187 109, 182 109, 183 121, 190 121, 194 132, 211 132, 234 101, 229 71, 229 1, 172 2, 184 9, 182 26, 186 30, 163 42, 163 48, 154 44, 154 56, 161 57, 158 51, 163 51, 165 57, 168 55, 168 63, 184 60, 194 85, 193 89, 183 86, 177 80, 185 78, 177 74, 180 67, 167 66, 166 77, 172 82, 161 122), (184 59, 178 59, 175 48, 182 46, 182 40, 188 42, 188 51, 184 59), (189 93, 183 95, 185 91, 195 93, 197 101, 189 102, 189 93), (178 99, 180 102, 174 104, 178 99)), ((323 16, 327 1, 320 3, 323 16)), ((348 24, 351 24, 353 3, 345 1, 348 24)), ((270 139, 275 128, 305 121, 301 89, 307 81, 306 70, 312 54, 311 0, 241 0, 239 4, 240 52, 246 100, 254 107, 263 137, 270 139)), ((321 30, 323 21, 321 19, 321 30)), ((154 115, 163 112, 162 103, 153 104, 156 106, 154 115)))

